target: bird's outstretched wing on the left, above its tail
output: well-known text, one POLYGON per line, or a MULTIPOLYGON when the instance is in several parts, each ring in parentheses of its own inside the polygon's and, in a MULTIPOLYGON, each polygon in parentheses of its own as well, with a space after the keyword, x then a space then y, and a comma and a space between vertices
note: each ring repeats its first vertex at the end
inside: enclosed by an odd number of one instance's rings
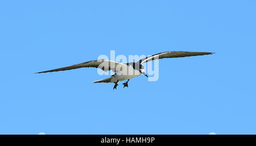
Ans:
POLYGON ((38 72, 38 73, 58 72, 58 71, 71 70, 71 69, 77 69, 77 68, 100 68, 105 72, 108 72, 109 70, 112 70, 113 72, 117 72, 122 68, 127 68, 127 65, 122 64, 120 62, 102 59, 102 60, 93 60, 93 61, 83 62, 81 64, 75 64, 75 65, 67 66, 64 68, 57 68, 57 69, 47 70, 47 71, 38 72))

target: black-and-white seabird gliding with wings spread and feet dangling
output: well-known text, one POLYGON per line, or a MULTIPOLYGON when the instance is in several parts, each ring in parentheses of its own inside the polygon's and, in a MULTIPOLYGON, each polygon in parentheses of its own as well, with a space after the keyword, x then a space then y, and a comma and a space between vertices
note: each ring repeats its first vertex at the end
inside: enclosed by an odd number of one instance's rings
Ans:
POLYGON ((109 77, 105 78, 103 80, 93 81, 92 83, 114 83, 113 90, 117 90, 118 82, 127 80, 125 83, 123 83, 123 88, 128 87, 128 82, 131 78, 138 77, 140 75, 144 75, 146 77, 147 74, 145 73, 144 66, 142 64, 157 60, 157 59, 166 59, 166 58, 176 58, 176 57, 188 57, 188 56, 199 56, 199 55, 212 55, 213 52, 188 52, 188 51, 168 51, 168 52, 161 52, 157 53, 152 56, 147 56, 137 62, 128 62, 126 64, 123 64, 121 62, 112 61, 112 60, 92 60, 87 62, 82 62, 80 64, 75 64, 71 66, 66 66, 64 68, 57 68, 52 70, 46 70, 43 72, 38 73, 48 73, 48 72, 59 72, 64 70, 71 70, 71 69, 78 69, 78 68, 99 68, 104 70, 105 72, 108 72, 112 70, 114 74, 109 77))

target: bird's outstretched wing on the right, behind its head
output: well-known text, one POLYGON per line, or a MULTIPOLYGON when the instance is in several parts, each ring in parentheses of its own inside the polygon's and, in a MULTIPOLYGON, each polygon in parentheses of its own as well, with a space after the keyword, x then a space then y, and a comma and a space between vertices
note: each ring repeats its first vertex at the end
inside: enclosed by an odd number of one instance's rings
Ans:
POLYGON ((210 54, 213 54, 213 53, 212 52, 170 51, 170 52, 162 52, 152 56, 148 56, 142 60, 139 60, 137 63, 143 64, 144 62, 148 62, 156 59, 187 57, 187 56, 197 56, 197 55, 210 55, 210 54))

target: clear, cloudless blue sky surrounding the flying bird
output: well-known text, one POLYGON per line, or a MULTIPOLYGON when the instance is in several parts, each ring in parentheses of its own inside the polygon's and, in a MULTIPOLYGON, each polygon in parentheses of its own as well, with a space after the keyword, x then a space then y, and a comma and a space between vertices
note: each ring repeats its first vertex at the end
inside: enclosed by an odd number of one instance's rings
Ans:
MULTIPOLYGON (((256 1, 1 1, 0 134, 256 134, 256 1), (92 84, 99 55, 159 60, 159 80, 92 84)), ((108 76, 106 76, 108 77, 108 76)))

